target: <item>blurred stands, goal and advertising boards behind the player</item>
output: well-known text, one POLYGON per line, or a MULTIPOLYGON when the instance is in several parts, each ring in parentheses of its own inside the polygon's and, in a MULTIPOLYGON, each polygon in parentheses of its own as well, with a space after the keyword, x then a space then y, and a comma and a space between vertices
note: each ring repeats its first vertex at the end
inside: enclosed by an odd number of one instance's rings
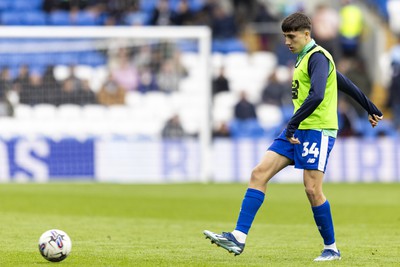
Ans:
POLYGON ((280 23, 296 11, 384 112, 372 129, 339 95, 326 179, 400 181, 399 10, 399 0, 2 0, 0 181, 247 181, 292 115, 295 56, 280 23))

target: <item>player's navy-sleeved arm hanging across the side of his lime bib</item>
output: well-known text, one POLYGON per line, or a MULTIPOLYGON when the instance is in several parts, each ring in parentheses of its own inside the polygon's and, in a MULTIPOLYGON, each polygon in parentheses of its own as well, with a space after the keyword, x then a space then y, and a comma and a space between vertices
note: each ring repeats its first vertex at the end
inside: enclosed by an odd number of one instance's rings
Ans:
POLYGON ((293 114, 286 127, 286 138, 295 144, 300 142, 296 142, 294 132, 300 123, 310 116, 324 99, 329 75, 329 60, 322 53, 311 55, 308 61, 308 75, 311 79, 309 94, 301 107, 293 114))

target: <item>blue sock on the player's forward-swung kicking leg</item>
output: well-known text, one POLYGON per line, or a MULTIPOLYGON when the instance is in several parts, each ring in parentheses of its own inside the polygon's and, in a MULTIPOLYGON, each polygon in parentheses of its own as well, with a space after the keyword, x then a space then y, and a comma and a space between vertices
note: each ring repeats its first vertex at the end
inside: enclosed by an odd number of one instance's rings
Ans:
POLYGON ((254 217, 258 209, 264 202, 265 194, 256 189, 248 188, 244 195, 242 208, 240 209, 239 218, 236 223, 235 230, 248 234, 254 217))

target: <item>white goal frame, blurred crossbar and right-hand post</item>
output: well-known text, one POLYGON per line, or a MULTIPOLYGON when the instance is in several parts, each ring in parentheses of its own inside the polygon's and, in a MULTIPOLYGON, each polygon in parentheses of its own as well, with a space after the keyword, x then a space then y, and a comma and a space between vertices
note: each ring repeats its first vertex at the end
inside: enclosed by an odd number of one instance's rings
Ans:
POLYGON ((204 82, 204 112, 202 112, 199 142, 201 163, 199 179, 211 179, 211 30, 206 26, 146 26, 146 27, 102 27, 102 26, 0 26, 1 38, 140 38, 143 40, 197 39, 199 51, 199 72, 196 75, 204 82))

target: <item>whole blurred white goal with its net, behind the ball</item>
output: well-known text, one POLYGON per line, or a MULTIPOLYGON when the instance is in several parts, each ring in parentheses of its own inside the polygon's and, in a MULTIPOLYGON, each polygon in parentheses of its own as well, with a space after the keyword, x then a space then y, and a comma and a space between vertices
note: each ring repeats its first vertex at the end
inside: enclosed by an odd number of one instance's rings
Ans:
POLYGON ((206 27, 1 27, 0 181, 205 181, 206 27))

